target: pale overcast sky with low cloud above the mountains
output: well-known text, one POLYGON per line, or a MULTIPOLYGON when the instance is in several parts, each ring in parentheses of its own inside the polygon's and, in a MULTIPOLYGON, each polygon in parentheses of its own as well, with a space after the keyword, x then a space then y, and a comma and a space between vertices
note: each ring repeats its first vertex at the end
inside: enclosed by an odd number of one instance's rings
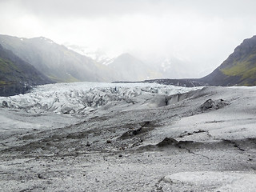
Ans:
POLYGON ((256 34, 255 7, 255 0, 0 0, 0 34, 43 36, 110 57, 174 57, 197 78, 256 34))

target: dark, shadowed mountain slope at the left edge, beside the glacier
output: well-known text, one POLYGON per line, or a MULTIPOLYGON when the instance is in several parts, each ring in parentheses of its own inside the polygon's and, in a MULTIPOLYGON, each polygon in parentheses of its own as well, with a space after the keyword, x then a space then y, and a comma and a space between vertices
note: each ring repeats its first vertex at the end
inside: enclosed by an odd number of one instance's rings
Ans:
POLYGON ((34 66, 0 45, 0 96, 24 94, 31 86, 52 82, 34 66))

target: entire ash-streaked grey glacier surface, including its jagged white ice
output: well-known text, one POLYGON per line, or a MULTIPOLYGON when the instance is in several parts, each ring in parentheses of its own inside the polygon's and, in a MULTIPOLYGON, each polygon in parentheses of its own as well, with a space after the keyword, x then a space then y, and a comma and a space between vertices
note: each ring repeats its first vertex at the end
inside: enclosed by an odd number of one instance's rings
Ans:
POLYGON ((0 98, 0 189, 255 191, 255 95, 79 82, 0 98))

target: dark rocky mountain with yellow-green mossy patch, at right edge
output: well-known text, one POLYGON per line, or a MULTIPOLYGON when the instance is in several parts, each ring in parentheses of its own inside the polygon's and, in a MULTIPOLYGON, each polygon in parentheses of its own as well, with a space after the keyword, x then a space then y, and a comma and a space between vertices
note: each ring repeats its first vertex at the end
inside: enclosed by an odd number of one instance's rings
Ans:
POLYGON ((245 39, 221 66, 200 81, 210 86, 256 86, 256 35, 245 39))

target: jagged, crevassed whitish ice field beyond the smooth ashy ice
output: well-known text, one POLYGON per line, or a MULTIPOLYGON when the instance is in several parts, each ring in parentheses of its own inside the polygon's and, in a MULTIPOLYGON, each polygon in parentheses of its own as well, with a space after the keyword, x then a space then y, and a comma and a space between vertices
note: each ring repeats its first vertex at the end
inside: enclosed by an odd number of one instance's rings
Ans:
POLYGON ((0 106, 22 109, 32 114, 52 111, 57 114, 84 115, 96 109, 110 110, 114 106, 124 104, 128 109, 129 106, 139 108, 164 106, 166 96, 196 89, 198 87, 186 88, 154 83, 58 83, 37 86, 28 94, 1 97, 0 106))

